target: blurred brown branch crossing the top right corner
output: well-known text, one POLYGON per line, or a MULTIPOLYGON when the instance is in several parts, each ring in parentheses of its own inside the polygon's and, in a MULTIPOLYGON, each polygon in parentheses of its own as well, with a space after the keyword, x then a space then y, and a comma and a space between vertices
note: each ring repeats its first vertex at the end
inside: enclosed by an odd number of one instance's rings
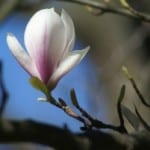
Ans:
POLYGON ((117 8, 114 6, 108 5, 108 3, 96 2, 93 0, 57 0, 57 1, 66 1, 71 3, 77 3, 85 6, 90 6, 92 8, 99 9, 104 13, 114 13, 122 16, 127 16, 130 18, 138 19, 145 22, 150 22, 150 15, 139 13, 138 11, 132 11, 127 8, 117 8), (136 13, 135 13, 136 12, 136 13))

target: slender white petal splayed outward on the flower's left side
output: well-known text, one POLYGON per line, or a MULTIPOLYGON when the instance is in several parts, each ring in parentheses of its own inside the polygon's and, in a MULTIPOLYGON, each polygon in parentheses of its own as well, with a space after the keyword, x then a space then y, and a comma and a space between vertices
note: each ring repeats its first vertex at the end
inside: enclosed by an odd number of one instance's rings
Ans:
POLYGON ((38 72, 35 68, 34 63, 32 62, 32 59, 28 54, 24 51, 20 43, 18 42, 17 38, 9 33, 7 35, 7 44, 9 49, 11 50, 14 57, 17 59, 17 61, 20 63, 20 65, 32 76, 38 77, 38 72))

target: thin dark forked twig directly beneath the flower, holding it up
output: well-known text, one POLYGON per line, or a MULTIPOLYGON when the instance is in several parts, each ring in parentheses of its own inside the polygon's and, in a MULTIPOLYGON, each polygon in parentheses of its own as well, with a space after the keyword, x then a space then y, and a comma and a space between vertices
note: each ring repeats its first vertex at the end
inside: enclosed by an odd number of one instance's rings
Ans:
POLYGON ((57 108, 63 110, 67 115, 70 117, 74 118, 75 120, 83 123, 83 127, 81 127, 82 130, 91 130, 92 128, 96 129, 111 129, 120 133, 127 133, 125 131, 125 128, 123 130, 122 125, 121 126, 113 126, 110 124, 105 124, 102 121, 99 121, 97 119, 94 119, 90 114, 88 114, 79 104, 75 95, 75 91, 71 91, 71 99, 76 108, 81 112, 82 116, 79 114, 75 113, 67 104, 66 102, 62 99, 59 98, 59 102, 55 100, 54 97, 51 95, 47 96, 46 101, 50 102, 52 105, 56 106, 57 108))

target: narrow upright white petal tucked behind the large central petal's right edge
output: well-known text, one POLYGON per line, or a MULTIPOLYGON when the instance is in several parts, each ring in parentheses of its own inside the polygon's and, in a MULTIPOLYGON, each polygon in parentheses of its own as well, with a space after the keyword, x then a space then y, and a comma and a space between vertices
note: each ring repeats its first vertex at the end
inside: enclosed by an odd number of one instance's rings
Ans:
POLYGON ((61 18, 66 30, 66 46, 64 49, 64 54, 62 56, 63 59, 67 55, 68 51, 71 51, 73 49, 75 42, 75 30, 73 21, 65 10, 62 10, 61 18))

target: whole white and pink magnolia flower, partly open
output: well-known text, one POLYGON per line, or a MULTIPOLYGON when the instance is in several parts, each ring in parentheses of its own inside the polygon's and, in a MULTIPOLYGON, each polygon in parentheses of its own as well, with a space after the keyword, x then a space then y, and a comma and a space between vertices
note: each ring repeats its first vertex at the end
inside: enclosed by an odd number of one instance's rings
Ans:
POLYGON ((27 51, 13 34, 7 35, 8 47, 20 65, 49 89, 87 54, 89 47, 72 51, 74 41, 71 17, 64 10, 57 14, 54 8, 36 12, 28 22, 24 33, 27 51))

